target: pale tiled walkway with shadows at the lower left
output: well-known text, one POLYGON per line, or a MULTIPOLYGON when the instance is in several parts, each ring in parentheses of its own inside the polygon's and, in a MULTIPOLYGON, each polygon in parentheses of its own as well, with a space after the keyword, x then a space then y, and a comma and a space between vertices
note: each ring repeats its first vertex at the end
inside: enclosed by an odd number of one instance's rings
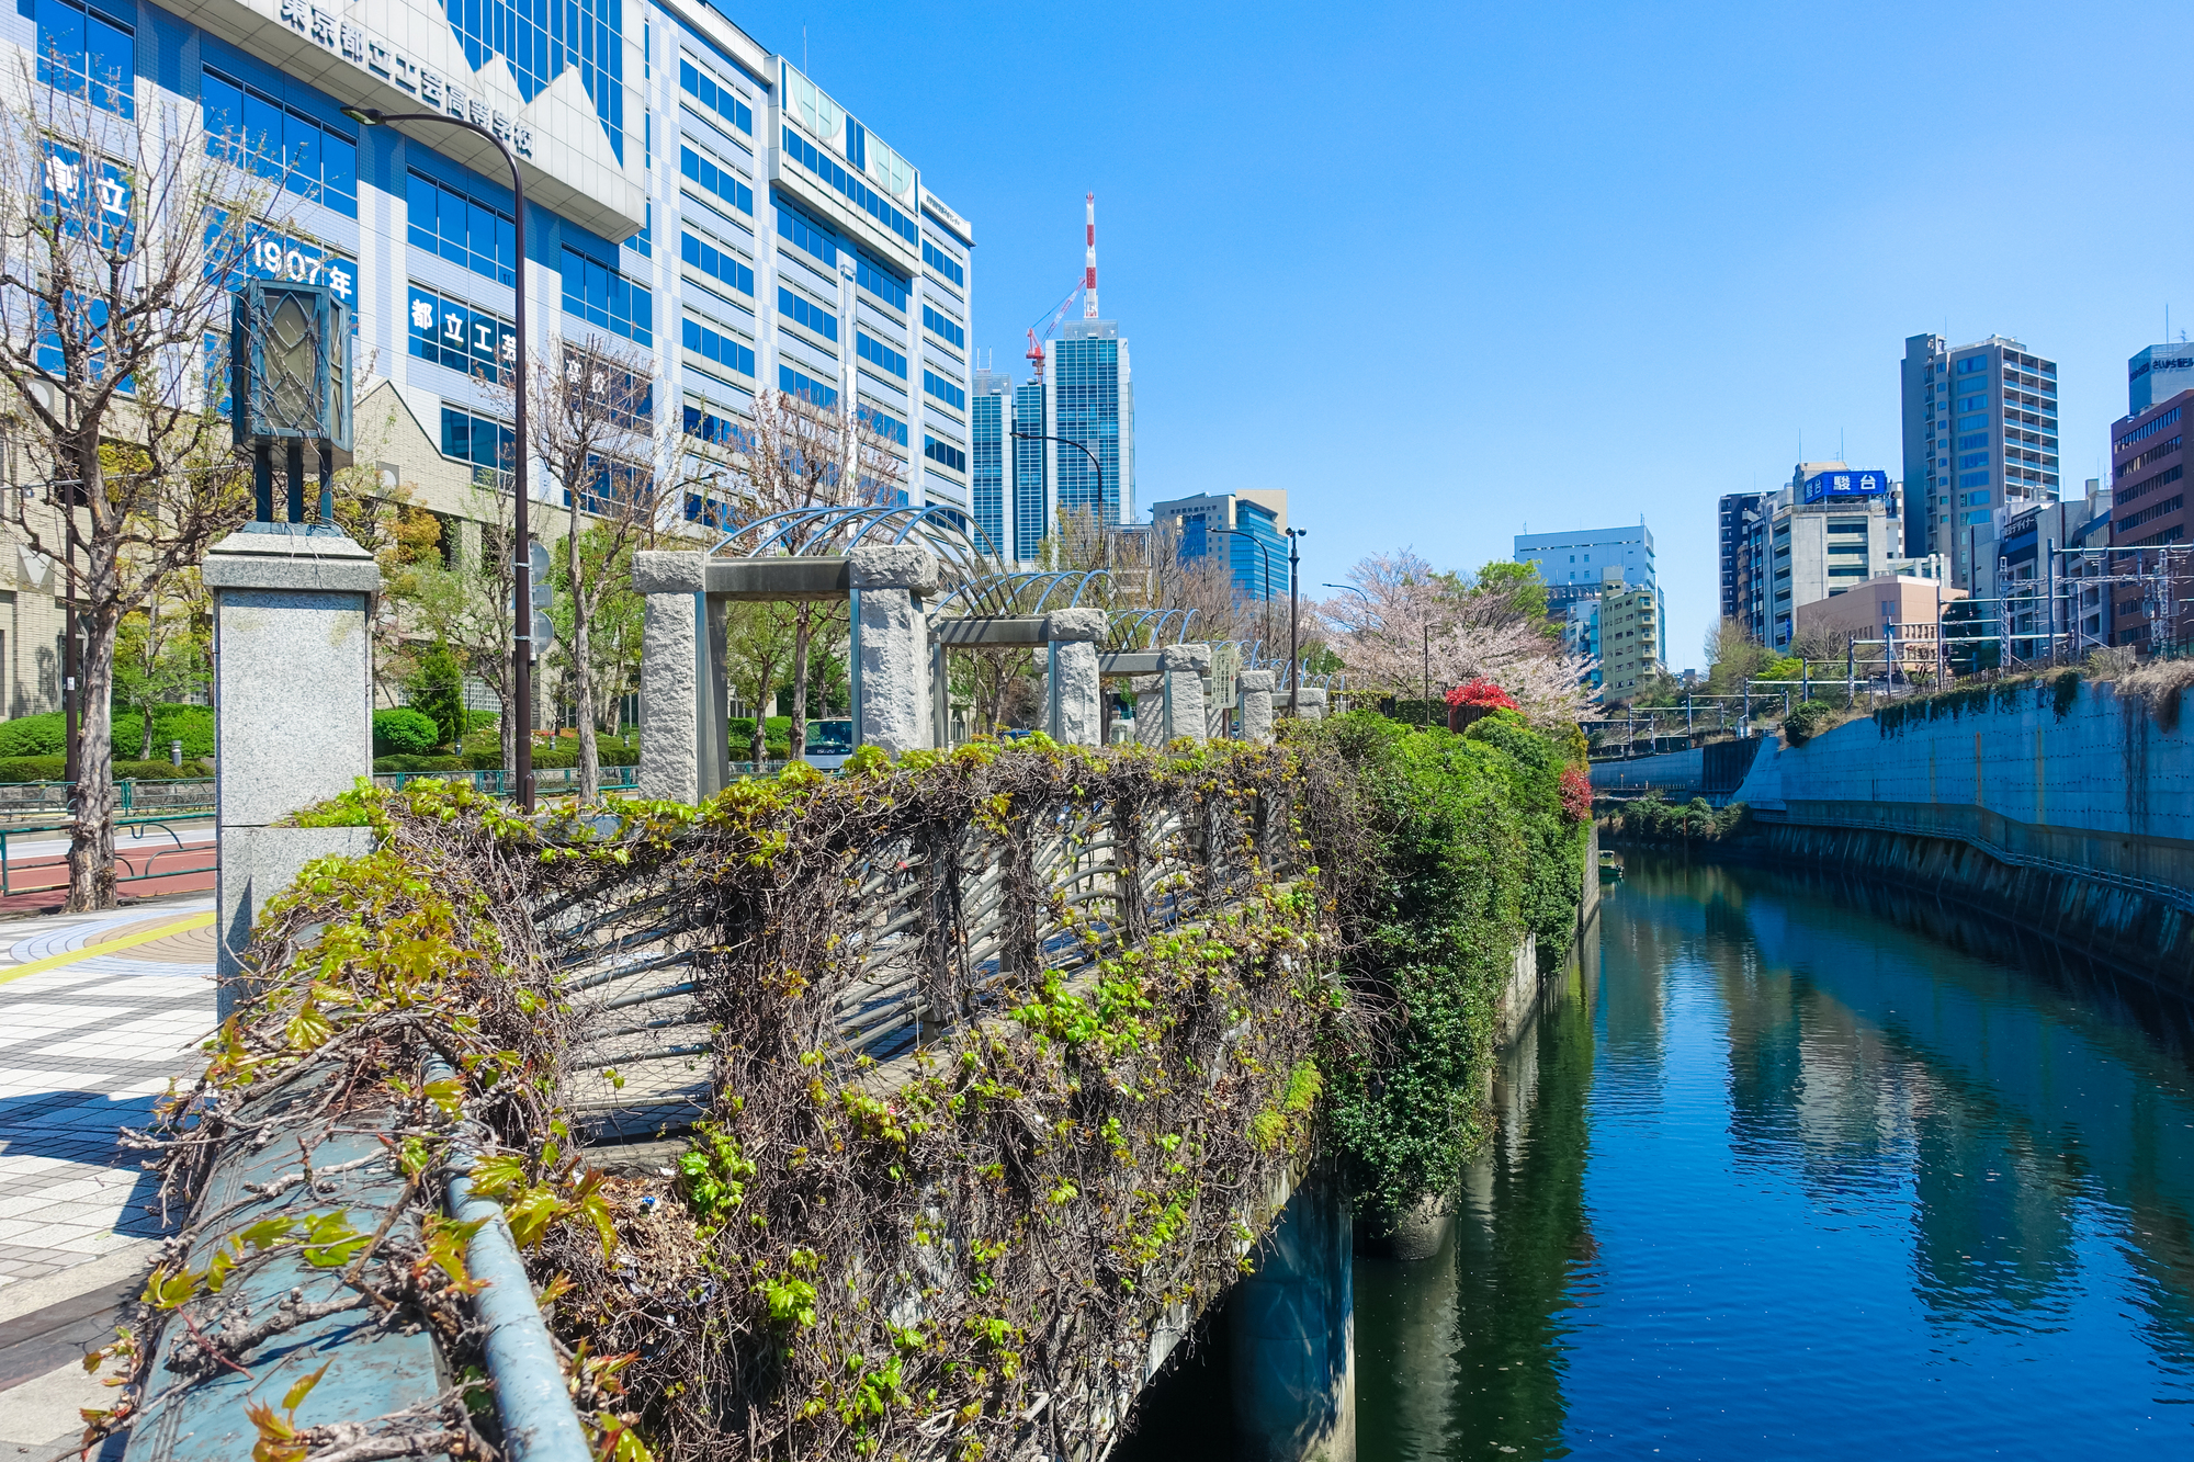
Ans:
POLYGON ((116 1137, 202 1065, 211 975, 211 898, 0 922, 0 1462, 61 1455, 105 1405, 75 1359, 160 1234, 116 1137))

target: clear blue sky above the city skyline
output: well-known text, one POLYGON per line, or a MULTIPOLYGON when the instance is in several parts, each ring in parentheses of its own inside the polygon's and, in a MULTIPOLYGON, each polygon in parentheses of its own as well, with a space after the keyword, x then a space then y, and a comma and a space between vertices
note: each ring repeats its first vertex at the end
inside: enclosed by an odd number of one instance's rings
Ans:
POLYGON ((1904 336, 2056 358, 2078 494, 2194 327, 2174 4, 722 9, 972 220, 998 367, 1097 191, 1143 505, 1286 487, 1312 586, 1646 514, 1676 667, 1718 494, 1902 474, 1904 336))

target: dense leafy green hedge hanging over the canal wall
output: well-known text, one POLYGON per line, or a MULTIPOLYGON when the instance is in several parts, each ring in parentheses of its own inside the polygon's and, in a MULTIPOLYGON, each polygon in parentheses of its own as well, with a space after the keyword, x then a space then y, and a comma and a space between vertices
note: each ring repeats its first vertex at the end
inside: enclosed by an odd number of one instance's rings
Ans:
POLYGON ((1349 977, 1393 1030, 1332 1051, 1330 1091, 1349 1188, 1378 1227, 1461 1181, 1512 951, 1529 931, 1542 964, 1569 953, 1588 830, 1562 814, 1569 753, 1514 711, 1463 735, 1356 711, 1290 740, 1354 773, 1360 841, 1334 869, 1360 889, 1343 911, 1349 977))

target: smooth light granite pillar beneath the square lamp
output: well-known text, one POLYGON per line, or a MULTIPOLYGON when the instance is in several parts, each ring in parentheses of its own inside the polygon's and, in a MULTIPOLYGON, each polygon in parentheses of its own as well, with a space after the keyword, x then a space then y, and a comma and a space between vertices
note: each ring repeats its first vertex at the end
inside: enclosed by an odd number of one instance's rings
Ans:
POLYGON ((255 522, 206 553, 213 591, 219 1014, 270 898, 327 854, 366 854, 366 828, 276 828, 373 775, 373 555, 303 522, 255 522))

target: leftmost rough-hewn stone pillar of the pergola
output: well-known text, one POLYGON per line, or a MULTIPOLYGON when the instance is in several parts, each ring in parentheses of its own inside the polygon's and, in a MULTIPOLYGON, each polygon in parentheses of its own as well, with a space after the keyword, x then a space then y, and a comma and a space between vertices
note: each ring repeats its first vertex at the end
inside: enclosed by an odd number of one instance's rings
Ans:
POLYGON ((731 781, 724 720, 724 604, 706 553, 632 555, 641 621, 641 797, 700 801, 731 781))

